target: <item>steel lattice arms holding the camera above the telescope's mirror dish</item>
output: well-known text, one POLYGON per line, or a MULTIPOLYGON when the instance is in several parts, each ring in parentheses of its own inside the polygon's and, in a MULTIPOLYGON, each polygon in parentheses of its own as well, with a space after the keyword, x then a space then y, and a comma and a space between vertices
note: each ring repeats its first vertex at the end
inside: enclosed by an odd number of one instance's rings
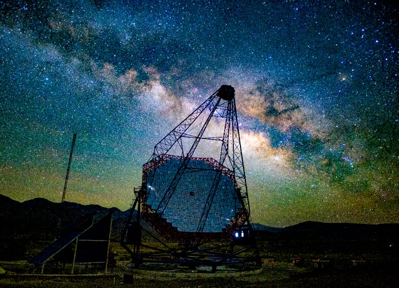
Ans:
MULTIPOLYGON (((143 219, 157 225, 157 219, 164 214, 165 209, 176 192, 182 176, 190 170, 190 162, 203 160, 211 165, 216 174, 209 187, 205 205, 197 225, 197 233, 202 233, 205 222, 211 209, 212 201, 217 192, 219 183, 224 177, 233 180, 235 195, 239 205, 236 207, 234 219, 227 225, 227 231, 232 234, 236 229, 249 222, 250 203, 248 199, 247 181, 242 159, 240 135, 238 129, 237 112, 235 106, 234 88, 228 85, 214 92, 197 109, 195 109, 185 120, 169 132, 154 148, 154 154, 150 160, 143 165, 142 193, 142 215, 143 219), (205 133, 209 125, 217 123, 221 127, 223 135, 212 135, 205 133), (223 123, 224 122, 224 123, 223 123), (212 124, 210 124, 212 123, 212 124), (197 149, 201 141, 212 141, 220 143, 218 160, 212 157, 198 157, 197 149), (171 151, 173 150, 173 155, 171 151), (173 171, 174 176, 167 189, 160 198, 157 207, 147 205, 147 197, 151 190, 147 183, 147 177, 151 171, 157 170, 171 157, 180 159, 178 166, 173 171)), ((216 157, 215 157, 216 158, 216 157)))

